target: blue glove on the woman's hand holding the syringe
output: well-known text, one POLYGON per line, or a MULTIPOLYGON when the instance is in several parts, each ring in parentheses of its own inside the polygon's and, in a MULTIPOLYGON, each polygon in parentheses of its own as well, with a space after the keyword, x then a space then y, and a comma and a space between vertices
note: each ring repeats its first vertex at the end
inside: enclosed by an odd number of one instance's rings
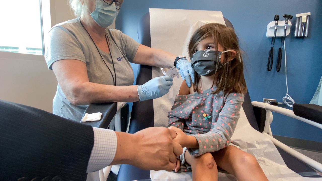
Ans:
POLYGON ((173 78, 165 75, 162 77, 156 77, 149 80, 143 85, 137 86, 137 94, 139 95, 140 101, 148 99, 156 99, 166 95, 169 92, 173 78))

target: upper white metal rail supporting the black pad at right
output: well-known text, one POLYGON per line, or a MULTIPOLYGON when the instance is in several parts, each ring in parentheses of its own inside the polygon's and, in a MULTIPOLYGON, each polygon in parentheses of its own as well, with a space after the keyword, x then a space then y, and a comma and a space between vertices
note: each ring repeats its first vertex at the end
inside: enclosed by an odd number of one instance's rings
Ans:
POLYGON ((258 101, 252 101, 251 104, 253 106, 264 108, 268 112, 270 112, 270 111, 277 112, 279 114, 283 114, 283 115, 289 116, 291 118, 298 119, 300 121, 303 121, 305 123, 308 123, 310 125, 313 125, 313 126, 316 126, 317 128, 322 129, 322 124, 319 124, 317 122, 311 121, 309 119, 299 117, 299 116, 295 115, 292 110, 281 108, 281 107, 278 107, 278 106, 273 106, 273 105, 270 105, 268 103, 263 103, 263 102, 258 102, 258 101))

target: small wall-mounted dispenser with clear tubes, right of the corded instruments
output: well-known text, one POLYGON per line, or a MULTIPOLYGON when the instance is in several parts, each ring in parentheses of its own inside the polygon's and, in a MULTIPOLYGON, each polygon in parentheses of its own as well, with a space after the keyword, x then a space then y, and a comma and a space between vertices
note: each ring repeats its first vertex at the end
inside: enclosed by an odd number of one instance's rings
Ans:
POLYGON ((307 37, 308 36, 308 24, 310 22, 311 13, 296 14, 296 25, 294 37, 307 37))

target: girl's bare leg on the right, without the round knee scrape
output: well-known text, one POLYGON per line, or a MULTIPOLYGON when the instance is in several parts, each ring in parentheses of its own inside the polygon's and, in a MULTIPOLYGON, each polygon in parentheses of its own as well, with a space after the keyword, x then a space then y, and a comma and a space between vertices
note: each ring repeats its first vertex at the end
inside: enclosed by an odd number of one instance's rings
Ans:
POLYGON ((218 167, 236 176, 239 181, 268 181, 256 158, 234 146, 212 153, 218 167))

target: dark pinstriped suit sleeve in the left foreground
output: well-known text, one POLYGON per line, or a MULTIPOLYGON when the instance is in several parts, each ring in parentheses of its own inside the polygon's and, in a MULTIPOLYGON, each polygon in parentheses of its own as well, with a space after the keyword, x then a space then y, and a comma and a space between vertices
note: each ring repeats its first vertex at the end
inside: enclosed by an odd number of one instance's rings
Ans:
POLYGON ((91 126, 0 100, 0 180, 85 180, 93 144, 91 126))

